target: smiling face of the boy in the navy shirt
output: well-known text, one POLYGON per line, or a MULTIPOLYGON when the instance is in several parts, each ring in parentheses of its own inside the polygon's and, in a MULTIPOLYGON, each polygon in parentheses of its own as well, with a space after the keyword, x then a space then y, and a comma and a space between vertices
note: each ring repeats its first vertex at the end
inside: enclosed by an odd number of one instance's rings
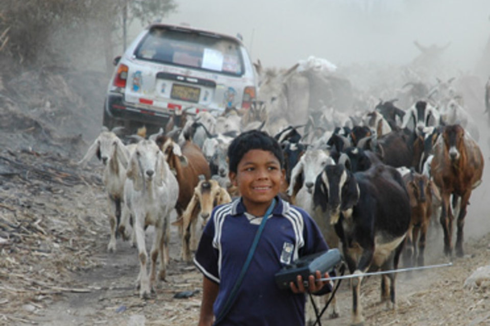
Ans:
POLYGON ((252 149, 243 155, 236 171, 230 171, 229 177, 238 187, 247 211, 264 214, 285 180, 279 160, 272 152, 252 149))

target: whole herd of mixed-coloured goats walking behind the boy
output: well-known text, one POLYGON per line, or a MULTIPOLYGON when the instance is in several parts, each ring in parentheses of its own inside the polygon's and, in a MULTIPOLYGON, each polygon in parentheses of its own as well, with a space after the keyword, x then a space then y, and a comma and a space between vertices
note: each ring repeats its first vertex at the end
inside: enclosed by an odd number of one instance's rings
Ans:
MULTIPOLYGON (((172 224, 179 226, 182 259, 190 261, 197 226, 206 223, 214 206, 239 195, 228 180, 226 151, 239 132, 250 128, 271 132, 283 148, 286 186, 281 196, 313 216, 329 246, 341 244, 350 273, 360 275, 351 283, 353 324, 364 320, 362 273, 396 269, 402 251, 405 266, 423 265, 433 221, 442 225, 444 252, 451 255, 456 218, 455 252, 463 255, 464 218, 472 190, 481 183, 483 157, 461 124, 448 124, 423 100, 406 111, 381 102, 330 130, 312 121, 277 128, 257 101, 249 110, 219 117, 176 110, 166 133, 161 129, 146 138, 139 130, 129 137, 137 142, 127 145, 118 129, 100 133, 79 164, 96 154, 105 166, 108 250, 116 250, 118 234, 136 243, 142 298, 155 284, 157 257, 158 277, 165 278, 170 212, 176 209, 172 224), (148 275, 144 230, 149 225, 155 226, 155 236, 148 275)), ((381 283, 381 297, 392 307, 395 275, 384 274, 381 283)), ((338 314, 332 306, 332 314, 338 314)))

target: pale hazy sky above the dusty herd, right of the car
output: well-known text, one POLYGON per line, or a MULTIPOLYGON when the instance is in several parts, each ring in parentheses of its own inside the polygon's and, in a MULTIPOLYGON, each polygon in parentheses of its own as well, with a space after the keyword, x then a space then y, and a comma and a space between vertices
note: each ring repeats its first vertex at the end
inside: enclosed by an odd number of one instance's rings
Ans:
POLYGON ((236 35, 252 59, 288 67, 309 56, 332 63, 406 63, 413 45, 450 42, 446 58, 473 69, 490 36, 490 0, 176 0, 165 22, 236 35))

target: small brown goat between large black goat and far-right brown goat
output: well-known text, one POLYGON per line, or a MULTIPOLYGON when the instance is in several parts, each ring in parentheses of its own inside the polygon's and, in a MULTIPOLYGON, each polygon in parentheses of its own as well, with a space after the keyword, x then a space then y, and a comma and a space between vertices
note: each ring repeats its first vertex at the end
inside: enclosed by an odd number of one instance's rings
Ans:
POLYGON ((427 230, 432 216, 432 194, 440 201, 439 190, 426 175, 414 171, 405 174, 403 181, 405 181, 411 207, 411 221, 405 239, 404 261, 406 266, 413 266, 417 259, 417 264, 423 266, 427 230), (417 252, 417 247, 419 247, 419 252, 417 252))

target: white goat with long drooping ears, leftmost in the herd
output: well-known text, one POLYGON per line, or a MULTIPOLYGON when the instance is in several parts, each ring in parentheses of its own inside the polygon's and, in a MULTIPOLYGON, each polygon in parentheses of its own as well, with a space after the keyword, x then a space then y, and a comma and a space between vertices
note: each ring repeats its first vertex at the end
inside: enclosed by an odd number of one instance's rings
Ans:
POLYGON ((86 163, 96 155, 104 164, 102 180, 104 182, 109 206, 109 224, 111 238, 107 246, 108 251, 116 250, 117 229, 121 217, 121 208, 124 205, 124 183, 126 180, 126 166, 128 165, 129 151, 113 131, 103 127, 99 137, 95 139, 78 165, 86 163))

